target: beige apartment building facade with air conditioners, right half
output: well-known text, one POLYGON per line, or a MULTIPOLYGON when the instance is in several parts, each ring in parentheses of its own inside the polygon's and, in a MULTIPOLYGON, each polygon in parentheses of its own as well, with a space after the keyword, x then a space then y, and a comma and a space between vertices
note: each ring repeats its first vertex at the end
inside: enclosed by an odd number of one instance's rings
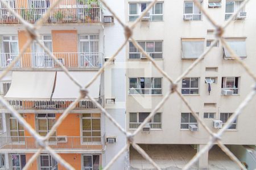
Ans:
MULTIPOLYGON (((218 25, 222 25, 243 1, 199 2, 212 19, 218 25)), ((126 0, 127 23, 131 24, 137 19, 149 3, 126 0)), ((255 5, 255 1, 247 3, 224 32, 227 43, 253 73, 256 72, 256 53, 253 45, 256 35, 251 25, 255 25, 256 22, 255 5)), ((216 39, 213 25, 202 14, 200 8, 187 0, 156 2, 134 29, 133 37, 173 79, 178 78, 216 39)), ((170 83, 131 42, 126 46, 126 61, 130 66, 126 70, 126 128, 133 132, 167 94, 170 83)), ((209 54, 177 84, 179 92, 213 132, 217 132, 221 128, 219 125, 224 125, 236 111, 251 91, 252 85, 253 79, 230 58, 221 42, 217 42, 209 54)), ((221 137, 225 145, 255 145, 253 103, 255 99, 247 105, 229 130, 225 131, 221 137)), ((177 94, 172 94, 144 127, 144 132, 142 130, 135 136, 135 142, 146 150, 153 146, 166 146, 163 148, 167 150, 167 145, 193 145, 200 151, 208 141, 209 134, 198 124, 177 94)), ((161 147, 156 147, 155 150, 160 152, 159 148, 161 147)), ((175 148, 175 151, 183 152, 178 148, 175 148)), ((130 159, 136 160, 138 155, 133 154, 130 152, 130 159)), ((156 160, 173 162, 171 157, 153 156, 156 160)), ((197 168, 208 168, 208 158, 208 152, 201 156, 197 168)), ((183 160, 179 153, 176 159, 180 159, 180 162, 183 160)), ((134 161, 130 167, 148 167, 145 162, 141 162, 134 161)), ((160 162, 159 165, 164 165, 164 162, 160 162)))

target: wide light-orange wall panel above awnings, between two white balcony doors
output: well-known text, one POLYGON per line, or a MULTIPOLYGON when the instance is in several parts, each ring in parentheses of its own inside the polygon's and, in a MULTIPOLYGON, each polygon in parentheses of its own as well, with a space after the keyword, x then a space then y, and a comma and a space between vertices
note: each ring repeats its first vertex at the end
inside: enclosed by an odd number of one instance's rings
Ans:
POLYGON ((52 48, 54 53, 77 52, 77 31, 52 30, 52 48))

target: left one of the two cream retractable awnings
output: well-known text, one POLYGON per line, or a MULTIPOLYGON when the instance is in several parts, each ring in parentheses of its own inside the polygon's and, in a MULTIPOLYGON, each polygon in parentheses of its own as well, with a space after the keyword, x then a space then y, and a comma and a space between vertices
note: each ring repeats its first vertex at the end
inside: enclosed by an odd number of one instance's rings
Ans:
POLYGON ((55 71, 13 71, 7 100, 50 100, 55 71))

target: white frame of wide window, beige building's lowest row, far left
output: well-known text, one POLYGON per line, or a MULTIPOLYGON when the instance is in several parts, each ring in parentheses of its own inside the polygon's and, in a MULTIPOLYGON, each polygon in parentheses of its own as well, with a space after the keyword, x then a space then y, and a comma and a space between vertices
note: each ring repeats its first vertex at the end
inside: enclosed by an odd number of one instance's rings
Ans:
MULTIPOLYGON (((129 112, 129 129, 131 129, 131 130, 137 129, 139 127, 139 125, 142 124, 142 122, 139 122, 139 113, 148 113, 148 115, 150 114, 150 112, 129 112), (136 113, 136 122, 131 122, 131 120, 130 120, 131 113, 136 113), (135 128, 133 128, 134 126, 132 127, 132 125, 134 125, 135 128)), ((151 130, 162 130, 162 112, 157 112, 156 114, 151 118, 151 121, 148 123, 150 124, 151 130), (160 114, 160 122, 154 122, 156 114, 160 114), (156 125, 156 126, 154 126, 154 125, 156 125), (155 128, 158 126, 160 128, 155 128)))

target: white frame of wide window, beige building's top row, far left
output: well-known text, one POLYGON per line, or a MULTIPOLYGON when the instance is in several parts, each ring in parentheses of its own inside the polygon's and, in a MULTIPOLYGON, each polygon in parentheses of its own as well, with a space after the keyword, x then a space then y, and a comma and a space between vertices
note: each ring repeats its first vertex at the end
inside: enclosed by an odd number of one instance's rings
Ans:
MULTIPOLYGON (((137 18, 139 18, 139 16, 141 16, 141 14, 142 14, 142 11, 141 11, 142 3, 146 3, 147 6, 150 4, 148 2, 130 2, 129 3, 129 5, 128 5, 128 20, 129 20, 129 22, 134 22, 134 20, 136 20, 137 18), (137 5, 137 14, 130 14, 130 4, 136 4, 137 5), (135 16, 134 20, 132 20, 130 18, 130 16, 135 16)), ((149 20, 150 22, 163 22, 163 20, 164 20, 164 2, 163 1, 156 2, 154 4, 154 6, 152 6, 150 8, 150 10, 148 12, 150 12, 150 20, 149 20), (163 13, 162 14, 153 14, 153 9, 155 10, 156 4, 159 4, 159 3, 162 3, 163 13), (162 16, 163 20, 153 20, 152 19, 153 16, 162 16)), ((155 13, 155 11, 154 11, 154 13, 155 13)))

